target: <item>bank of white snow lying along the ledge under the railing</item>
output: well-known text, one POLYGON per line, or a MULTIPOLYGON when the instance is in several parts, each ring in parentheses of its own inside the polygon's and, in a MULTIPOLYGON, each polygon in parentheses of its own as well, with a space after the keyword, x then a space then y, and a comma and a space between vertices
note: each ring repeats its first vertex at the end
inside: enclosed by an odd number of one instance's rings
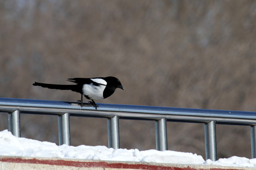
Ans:
POLYGON ((256 159, 247 159, 237 156, 227 159, 219 159, 218 161, 204 161, 203 157, 200 155, 175 151, 139 151, 138 149, 113 149, 107 148, 106 146, 86 145, 75 147, 66 144, 58 146, 51 142, 40 142, 33 139, 15 137, 8 130, 0 132, 0 155, 256 167, 256 159))

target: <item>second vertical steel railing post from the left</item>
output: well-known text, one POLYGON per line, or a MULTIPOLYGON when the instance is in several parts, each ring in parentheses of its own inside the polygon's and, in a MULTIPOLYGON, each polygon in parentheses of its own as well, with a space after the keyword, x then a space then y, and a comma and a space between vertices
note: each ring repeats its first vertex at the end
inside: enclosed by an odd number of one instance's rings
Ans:
POLYGON ((70 114, 58 116, 59 145, 70 145, 70 114))

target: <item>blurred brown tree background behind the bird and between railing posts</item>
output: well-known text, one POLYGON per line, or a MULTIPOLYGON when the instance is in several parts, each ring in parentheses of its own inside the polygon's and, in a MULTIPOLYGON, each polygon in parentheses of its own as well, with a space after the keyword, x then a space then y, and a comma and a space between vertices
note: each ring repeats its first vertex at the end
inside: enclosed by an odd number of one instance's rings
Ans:
MULTIPOLYGON (((77 101, 32 84, 115 76, 125 90, 97 102, 256 111, 256 1, 1 0, 0 68, 5 98, 77 101)), ((58 144, 57 117, 20 119, 22 137, 58 144)), ((251 157, 249 127, 216 130, 218 158, 251 157)), ((120 140, 155 149, 154 122, 120 119, 120 140)), ((71 144, 107 146, 106 119, 71 117, 71 144)), ((203 124, 168 122, 168 149, 205 156, 203 124)))

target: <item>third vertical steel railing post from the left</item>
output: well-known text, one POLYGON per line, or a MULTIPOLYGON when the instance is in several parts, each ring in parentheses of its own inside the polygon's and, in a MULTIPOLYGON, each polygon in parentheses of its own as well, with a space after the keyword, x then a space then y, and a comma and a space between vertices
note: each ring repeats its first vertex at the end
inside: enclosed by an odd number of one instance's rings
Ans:
POLYGON ((120 148, 119 142, 119 118, 114 116, 107 119, 107 134, 108 134, 108 147, 118 149, 120 148))

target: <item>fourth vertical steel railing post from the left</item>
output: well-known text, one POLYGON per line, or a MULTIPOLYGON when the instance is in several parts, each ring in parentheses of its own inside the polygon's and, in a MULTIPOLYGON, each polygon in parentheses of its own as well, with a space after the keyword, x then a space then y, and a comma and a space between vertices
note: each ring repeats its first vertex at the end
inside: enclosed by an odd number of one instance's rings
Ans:
POLYGON ((158 151, 166 151, 167 147, 167 128, 166 118, 155 121, 156 148, 158 151))

